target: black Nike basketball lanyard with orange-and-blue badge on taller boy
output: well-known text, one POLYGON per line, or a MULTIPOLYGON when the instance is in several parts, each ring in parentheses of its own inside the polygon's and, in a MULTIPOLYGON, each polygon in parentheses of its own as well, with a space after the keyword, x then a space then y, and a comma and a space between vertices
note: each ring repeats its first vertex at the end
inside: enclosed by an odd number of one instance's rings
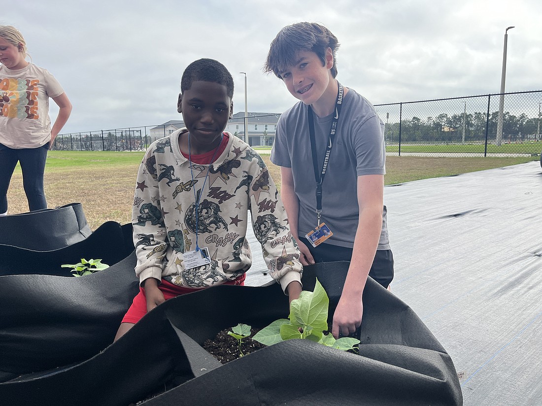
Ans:
POLYGON ((322 169, 320 170, 318 168, 318 153, 316 150, 316 137, 314 132, 314 116, 312 113, 311 106, 308 106, 308 130, 309 130, 309 139, 311 140, 311 152, 312 152, 312 164, 314 168, 314 179, 316 181, 316 214, 317 214, 317 226, 314 228, 314 230, 311 231, 311 233, 308 233, 306 235, 307 239, 313 244, 313 247, 316 247, 318 244, 320 244, 322 241, 328 239, 333 235, 331 233, 331 230, 325 225, 325 223, 322 223, 320 225, 320 218, 322 216, 322 183, 324 182, 324 177, 326 176, 327 167, 330 163, 330 155, 331 155, 331 149, 333 148, 333 143, 335 140, 335 132, 337 131, 337 125, 339 123, 339 115, 341 111, 341 107, 343 107, 343 96, 344 96, 344 88, 343 85, 341 85, 339 82, 338 84, 338 91, 337 91, 337 100, 335 101, 335 111, 333 115, 333 121, 331 122, 331 128, 330 128, 330 136, 327 139, 326 144, 326 152, 324 154, 324 162, 322 163, 322 169), (315 234, 319 235, 321 231, 321 235, 315 240, 318 241, 316 245, 314 245, 313 240, 310 236, 314 236, 315 234), (329 234, 325 234, 324 231, 328 231, 329 234))

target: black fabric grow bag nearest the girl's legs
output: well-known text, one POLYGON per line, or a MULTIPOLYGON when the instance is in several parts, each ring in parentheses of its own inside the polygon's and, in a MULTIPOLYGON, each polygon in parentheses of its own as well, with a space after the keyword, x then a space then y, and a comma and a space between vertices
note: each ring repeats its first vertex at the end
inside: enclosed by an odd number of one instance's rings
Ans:
POLYGON ((49 251, 91 235, 81 203, 0 216, 0 244, 49 251))

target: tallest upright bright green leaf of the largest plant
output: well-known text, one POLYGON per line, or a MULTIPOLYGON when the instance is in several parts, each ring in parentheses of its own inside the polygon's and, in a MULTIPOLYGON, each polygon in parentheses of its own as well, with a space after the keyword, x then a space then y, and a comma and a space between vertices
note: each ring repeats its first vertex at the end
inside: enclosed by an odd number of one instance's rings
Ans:
POLYGON ((327 329, 329 305, 326 291, 317 279, 314 292, 302 291, 299 299, 292 300, 289 319, 292 325, 311 326, 315 330, 324 331, 327 329))

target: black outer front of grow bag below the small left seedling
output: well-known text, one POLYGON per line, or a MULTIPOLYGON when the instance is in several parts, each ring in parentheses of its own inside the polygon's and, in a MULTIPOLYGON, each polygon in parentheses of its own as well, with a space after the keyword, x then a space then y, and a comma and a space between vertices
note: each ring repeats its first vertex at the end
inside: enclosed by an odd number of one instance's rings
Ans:
MULTIPOLYGON (((139 292, 134 266, 132 252, 80 278, 0 276, 0 382, 82 362, 111 344, 139 292)), ((10 403, 0 394, 0 404, 10 403)))

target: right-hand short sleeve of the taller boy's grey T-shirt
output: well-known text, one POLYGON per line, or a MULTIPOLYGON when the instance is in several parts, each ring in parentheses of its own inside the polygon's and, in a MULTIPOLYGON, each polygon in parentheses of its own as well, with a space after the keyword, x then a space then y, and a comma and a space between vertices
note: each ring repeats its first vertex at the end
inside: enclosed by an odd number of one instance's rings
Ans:
POLYGON ((368 118, 354 131, 353 146, 357 176, 385 175, 384 134, 378 115, 368 118))

